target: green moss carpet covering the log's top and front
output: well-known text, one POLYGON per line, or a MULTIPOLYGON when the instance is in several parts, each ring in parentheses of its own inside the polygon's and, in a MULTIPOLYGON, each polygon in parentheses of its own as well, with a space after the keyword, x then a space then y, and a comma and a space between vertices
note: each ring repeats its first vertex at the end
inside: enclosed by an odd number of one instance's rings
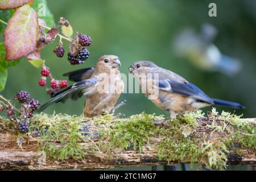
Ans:
MULTIPOLYGON (((212 109, 205 116, 201 111, 178 115, 156 125, 163 116, 138 114, 118 118, 112 114, 94 118, 65 114, 39 114, 30 120, 30 133, 39 135, 38 150, 58 160, 82 159, 100 152, 144 151, 151 145, 159 160, 168 163, 200 163, 212 169, 225 169, 230 151, 242 154, 242 149, 256 148, 256 121, 212 109), (86 127, 86 131, 81 130, 86 127), (97 133, 97 140, 88 139, 97 133)), ((0 117, 0 131, 17 135, 14 122, 0 117)))

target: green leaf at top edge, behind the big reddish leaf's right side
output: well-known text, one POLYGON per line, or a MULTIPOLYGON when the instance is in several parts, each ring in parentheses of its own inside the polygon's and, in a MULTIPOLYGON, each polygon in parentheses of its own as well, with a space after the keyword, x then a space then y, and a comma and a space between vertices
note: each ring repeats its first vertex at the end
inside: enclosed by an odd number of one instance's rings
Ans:
POLYGON ((46 21, 48 27, 54 26, 54 18, 46 0, 35 0, 32 8, 38 13, 39 18, 46 21))

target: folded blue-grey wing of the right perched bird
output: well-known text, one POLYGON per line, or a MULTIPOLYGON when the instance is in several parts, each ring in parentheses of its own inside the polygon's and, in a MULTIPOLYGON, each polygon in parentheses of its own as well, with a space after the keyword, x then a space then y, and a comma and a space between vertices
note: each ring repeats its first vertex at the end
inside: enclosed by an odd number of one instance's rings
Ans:
POLYGON ((190 82, 181 83, 171 80, 159 80, 159 90, 181 94, 183 96, 195 98, 198 101, 214 104, 212 98, 207 96, 207 94, 205 94, 201 89, 190 82))

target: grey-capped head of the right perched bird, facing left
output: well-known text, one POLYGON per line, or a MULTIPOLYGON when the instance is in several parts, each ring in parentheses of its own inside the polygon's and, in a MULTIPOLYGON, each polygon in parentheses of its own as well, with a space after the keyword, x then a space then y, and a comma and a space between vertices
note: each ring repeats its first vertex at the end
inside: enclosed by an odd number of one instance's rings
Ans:
POLYGON ((129 67, 129 73, 134 75, 141 75, 151 73, 158 66, 151 61, 138 61, 129 67))

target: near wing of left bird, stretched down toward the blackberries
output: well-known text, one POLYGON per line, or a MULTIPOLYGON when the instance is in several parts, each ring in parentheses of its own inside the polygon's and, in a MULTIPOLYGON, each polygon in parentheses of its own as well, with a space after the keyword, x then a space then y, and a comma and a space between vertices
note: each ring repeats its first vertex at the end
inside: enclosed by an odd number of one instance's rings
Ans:
POLYGON ((83 93, 86 92, 86 89, 95 86, 98 84, 98 80, 96 78, 88 79, 88 80, 82 80, 77 82, 76 84, 69 86, 69 88, 64 89, 63 91, 55 94, 51 100, 46 102, 46 104, 42 105, 37 112, 40 112, 49 105, 55 103, 55 102, 60 102, 60 101, 65 101, 68 98, 72 98, 72 100, 76 100, 77 98, 81 97, 83 93))

